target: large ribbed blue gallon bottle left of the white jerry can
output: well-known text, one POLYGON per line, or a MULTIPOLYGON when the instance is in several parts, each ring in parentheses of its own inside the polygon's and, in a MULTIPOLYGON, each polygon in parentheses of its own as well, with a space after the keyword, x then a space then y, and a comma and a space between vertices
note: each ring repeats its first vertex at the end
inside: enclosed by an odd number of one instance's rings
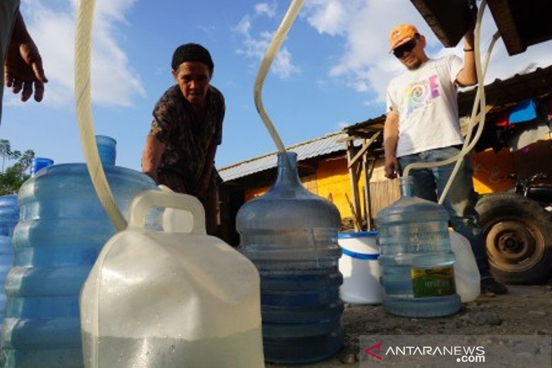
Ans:
MULTIPOLYGON (((103 151, 102 140, 97 143, 103 151)), ((157 188, 142 173, 102 165, 124 215, 135 195, 157 188)), ((19 206, 14 267, 6 277, 4 366, 83 367, 79 292, 115 227, 86 164, 42 168, 21 186, 19 206)))

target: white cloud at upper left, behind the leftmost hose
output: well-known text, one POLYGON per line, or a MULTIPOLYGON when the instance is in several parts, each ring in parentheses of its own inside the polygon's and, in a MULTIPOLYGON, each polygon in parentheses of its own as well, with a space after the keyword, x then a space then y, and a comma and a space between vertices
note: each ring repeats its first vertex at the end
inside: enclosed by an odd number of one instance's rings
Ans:
MULTIPOLYGON (((75 17, 77 1, 23 0, 21 12, 39 46, 48 77, 44 100, 49 106, 73 104, 75 63, 75 17)), ((92 38, 92 99, 103 106, 131 106, 146 91, 128 57, 117 43, 124 14, 135 0, 98 0, 92 38), (124 81, 124 83, 121 83, 124 81)))

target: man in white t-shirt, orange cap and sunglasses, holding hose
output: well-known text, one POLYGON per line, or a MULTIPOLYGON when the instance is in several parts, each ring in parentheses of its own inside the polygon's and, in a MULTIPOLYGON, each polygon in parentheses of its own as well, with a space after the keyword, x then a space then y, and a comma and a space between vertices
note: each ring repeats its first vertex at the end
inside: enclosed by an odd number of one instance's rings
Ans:
MULTIPOLYGON (((426 38, 415 26, 400 24, 389 35, 391 52, 407 70, 387 88, 384 126, 385 175, 394 179, 413 162, 437 162, 460 153, 464 139, 458 119, 457 87, 477 83, 473 52, 473 28, 464 37, 464 62, 456 56, 430 59, 426 38)), ((414 194, 437 202, 454 164, 413 169, 414 194)), ((485 240, 477 224, 477 195, 473 190, 469 156, 464 157, 444 206, 451 226, 471 243, 481 273, 482 293, 506 293, 489 269, 485 240)))

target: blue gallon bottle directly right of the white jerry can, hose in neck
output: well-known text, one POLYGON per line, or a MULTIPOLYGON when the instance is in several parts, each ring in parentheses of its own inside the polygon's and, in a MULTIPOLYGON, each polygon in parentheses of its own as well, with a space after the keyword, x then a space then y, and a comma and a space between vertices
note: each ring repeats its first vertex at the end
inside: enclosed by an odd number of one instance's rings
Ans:
POLYGON ((278 153, 276 182, 239 209, 238 249, 261 276, 266 361, 314 362, 341 347, 340 226, 337 208, 299 182, 296 153, 278 153))

